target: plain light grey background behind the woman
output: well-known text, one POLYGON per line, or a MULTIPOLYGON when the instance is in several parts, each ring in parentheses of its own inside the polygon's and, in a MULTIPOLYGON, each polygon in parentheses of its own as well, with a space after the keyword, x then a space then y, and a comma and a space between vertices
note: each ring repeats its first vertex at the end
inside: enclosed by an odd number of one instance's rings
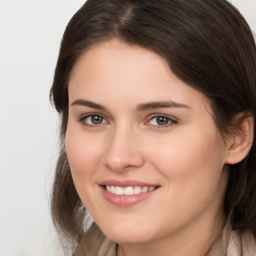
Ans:
MULTIPOLYGON (((62 255, 49 217, 60 39, 84 0, 0 0, 0 256, 62 255)), ((256 0, 232 0, 256 31, 256 0)))

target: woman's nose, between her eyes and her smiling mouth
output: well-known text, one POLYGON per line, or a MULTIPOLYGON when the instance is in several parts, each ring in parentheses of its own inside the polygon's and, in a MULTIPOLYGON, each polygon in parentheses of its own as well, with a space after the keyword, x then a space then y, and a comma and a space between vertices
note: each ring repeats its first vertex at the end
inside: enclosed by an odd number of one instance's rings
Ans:
POLYGON ((113 131, 108 139, 104 164, 115 172, 142 166, 144 157, 139 134, 127 127, 113 131))

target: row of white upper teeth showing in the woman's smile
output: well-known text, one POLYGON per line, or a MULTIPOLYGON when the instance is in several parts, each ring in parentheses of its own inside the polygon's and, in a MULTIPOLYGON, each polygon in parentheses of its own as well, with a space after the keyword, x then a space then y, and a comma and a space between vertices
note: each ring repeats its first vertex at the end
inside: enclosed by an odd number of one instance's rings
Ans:
POLYGON ((145 193, 147 191, 152 191, 155 188, 155 186, 113 186, 113 185, 106 185, 106 190, 108 192, 111 192, 113 194, 125 194, 125 195, 132 195, 132 194, 140 194, 145 193))

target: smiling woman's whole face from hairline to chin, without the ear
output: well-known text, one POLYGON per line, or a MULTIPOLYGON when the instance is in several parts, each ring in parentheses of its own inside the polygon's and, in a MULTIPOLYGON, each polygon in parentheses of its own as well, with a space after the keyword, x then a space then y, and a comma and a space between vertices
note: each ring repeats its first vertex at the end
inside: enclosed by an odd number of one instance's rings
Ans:
POLYGON ((212 227, 227 149, 204 94, 154 52, 111 40, 80 56, 68 97, 73 181, 109 239, 144 242, 212 227))

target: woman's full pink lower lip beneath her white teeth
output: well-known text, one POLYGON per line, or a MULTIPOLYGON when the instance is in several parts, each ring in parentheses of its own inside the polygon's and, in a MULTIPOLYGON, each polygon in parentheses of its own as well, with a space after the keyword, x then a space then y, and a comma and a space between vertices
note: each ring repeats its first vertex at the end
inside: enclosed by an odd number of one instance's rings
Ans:
POLYGON ((117 205, 117 206, 122 206, 122 207, 129 207, 132 206, 136 203, 139 203, 145 199, 147 199, 149 196, 151 196, 156 190, 158 190, 158 187, 151 190, 147 191, 144 193, 139 193, 139 194, 132 194, 132 195, 118 195, 118 194, 113 194, 111 192, 108 192, 103 186, 99 186, 103 196, 107 201, 110 203, 117 205))

